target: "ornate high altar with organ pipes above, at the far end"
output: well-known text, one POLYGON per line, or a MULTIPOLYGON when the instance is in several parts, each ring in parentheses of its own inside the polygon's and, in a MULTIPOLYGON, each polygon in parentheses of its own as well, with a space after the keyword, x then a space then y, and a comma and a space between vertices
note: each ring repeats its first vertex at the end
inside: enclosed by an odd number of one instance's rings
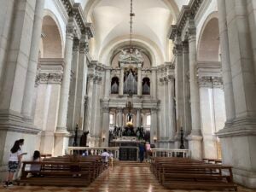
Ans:
POLYGON ((150 72, 143 69, 141 50, 123 49, 119 55, 119 68, 120 71, 110 73, 111 97, 108 102, 102 100, 110 113, 108 146, 120 147, 120 160, 137 160, 138 144, 152 141, 151 109, 157 108, 157 101, 150 96, 150 81, 147 80, 150 72), (142 73, 146 76, 144 79, 142 73))

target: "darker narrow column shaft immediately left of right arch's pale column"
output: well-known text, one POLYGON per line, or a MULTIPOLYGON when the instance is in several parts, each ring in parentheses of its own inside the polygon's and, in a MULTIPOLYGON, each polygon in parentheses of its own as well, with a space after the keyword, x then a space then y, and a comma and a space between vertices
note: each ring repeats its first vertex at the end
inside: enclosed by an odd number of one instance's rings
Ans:
POLYGON ((190 108, 190 86, 189 86, 189 44, 183 42, 183 109, 184 123, 183 133, 188 136, 191 132, 191 108, 190 108))

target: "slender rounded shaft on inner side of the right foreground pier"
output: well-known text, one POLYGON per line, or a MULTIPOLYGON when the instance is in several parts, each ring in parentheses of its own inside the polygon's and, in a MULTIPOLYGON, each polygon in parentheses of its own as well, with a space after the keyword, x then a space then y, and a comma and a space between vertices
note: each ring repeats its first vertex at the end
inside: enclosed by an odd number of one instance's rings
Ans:
POLYGON ((235 119, 236 110, 234 102, 234 92, 232 84, 232 74, 230 68, 230 49, 229 49, 229 37, 227 29, 226 19, 226 5, 225 1, 218 0, 218 29, 220 38, 220 49, 221 49, 221 66, 225 96, 225 110, 227 123, 235 119))

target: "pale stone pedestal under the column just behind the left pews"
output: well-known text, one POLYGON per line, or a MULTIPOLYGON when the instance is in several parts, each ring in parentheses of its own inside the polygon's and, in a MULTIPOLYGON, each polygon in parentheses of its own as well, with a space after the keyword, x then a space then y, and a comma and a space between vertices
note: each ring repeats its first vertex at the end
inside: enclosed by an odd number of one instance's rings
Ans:
POLYGON ((68 140, 71 134, 68 131, 55 131, 54 155, 67 154, 68 140))

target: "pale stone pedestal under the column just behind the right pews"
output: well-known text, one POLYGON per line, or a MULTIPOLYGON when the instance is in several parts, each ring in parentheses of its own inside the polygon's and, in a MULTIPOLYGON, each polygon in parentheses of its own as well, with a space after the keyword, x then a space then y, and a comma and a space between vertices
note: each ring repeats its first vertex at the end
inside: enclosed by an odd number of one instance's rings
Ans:
POLYGON ((190 134, 186 139, 189 142, 189 150, 191 152, 191 158, 194 160, 202 159, 202 137, 198 135, 190 134))

